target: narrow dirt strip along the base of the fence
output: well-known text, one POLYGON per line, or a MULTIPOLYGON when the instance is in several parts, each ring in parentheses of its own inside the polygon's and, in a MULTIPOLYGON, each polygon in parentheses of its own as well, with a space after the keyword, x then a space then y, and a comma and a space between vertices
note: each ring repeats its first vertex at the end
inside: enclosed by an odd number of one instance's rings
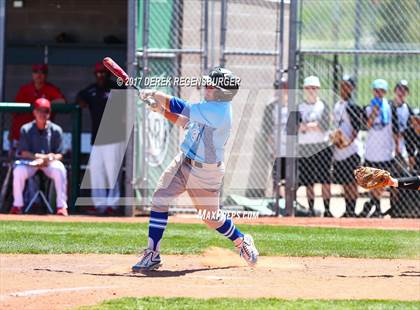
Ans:
MULTIPOLYGON (((0 214, 0 221, 52 221, 52 222, 117 222, 148 223, 149 217, 96 217, 56 215, 10 215, 0 214)), ((236 224, 281 225, 304 227, 377 228, 398 230, 420 230, 420 219, 367 219, 367 218, 281 218, 261 217, 256 219, 234 219, 236 224)), ((176 215, 169 217, 170 223, 202 223, 195 215, 176 215)))

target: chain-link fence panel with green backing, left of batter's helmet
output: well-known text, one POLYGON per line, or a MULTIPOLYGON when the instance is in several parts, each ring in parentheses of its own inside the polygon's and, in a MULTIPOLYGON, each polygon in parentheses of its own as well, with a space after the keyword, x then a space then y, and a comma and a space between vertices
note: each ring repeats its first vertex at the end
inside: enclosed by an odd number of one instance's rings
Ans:
MULTIPOLYGON (((202 74, 206 2, 139 1, 138 76, 164 80, 202 74)), ((199 90, 194 88, 167 85, 157 89, 189 100, 199 98, 199 90)), ((180 139, 179 128, 138 104, 133 184, 142 206, 149 204, 161 173, 179 152, 180 139)))

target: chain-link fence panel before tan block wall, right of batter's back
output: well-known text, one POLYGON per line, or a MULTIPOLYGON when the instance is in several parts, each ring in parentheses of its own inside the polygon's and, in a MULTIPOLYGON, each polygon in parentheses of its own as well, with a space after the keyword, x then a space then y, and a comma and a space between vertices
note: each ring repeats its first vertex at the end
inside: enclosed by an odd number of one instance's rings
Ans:
POLYGON ((243 89, 233 104, 237 131, 228 148, 226 194, 273 197, 274 89, 283 61, 280 5, 279 1, 222 2, 221 64, 240 76, 243 89))

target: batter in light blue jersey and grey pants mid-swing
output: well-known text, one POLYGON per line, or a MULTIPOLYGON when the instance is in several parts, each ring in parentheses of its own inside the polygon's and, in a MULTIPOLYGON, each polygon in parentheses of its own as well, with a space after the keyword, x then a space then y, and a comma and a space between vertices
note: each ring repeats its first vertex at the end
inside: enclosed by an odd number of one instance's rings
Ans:
POLYGON ((133 272, 161 266, 160 241, 168 222, 171 202, 187 191, 203 221, 233 241, 241 257, 257 263, 258 251, 250 235, 242 234, 232 219, 219 212, 219 194, 225 172, 223 153, 232 125, 231 101, 239 89, 239 79, 229 70, 216 67, 207 77, 204 100, 190 104, 160 91, 141 90, 140 98, 152 111, 186 129, 181 152, 163 172, 152 198, 148 247, 132 267, 133 272))

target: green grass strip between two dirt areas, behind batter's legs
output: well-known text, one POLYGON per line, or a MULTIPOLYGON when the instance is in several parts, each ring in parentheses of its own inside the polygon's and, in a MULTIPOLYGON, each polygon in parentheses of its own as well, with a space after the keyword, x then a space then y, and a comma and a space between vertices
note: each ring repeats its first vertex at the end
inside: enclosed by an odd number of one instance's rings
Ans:
MULTIPOLYGON (((146 223, 0 222, 0 253, 133 254, 146 245, 146 223)), ((420 232, 239 225, 262 255, 419 258, 420 232)), ((229 240, 201 224, 169 224, 163 254, 198 254, 229 240)))

